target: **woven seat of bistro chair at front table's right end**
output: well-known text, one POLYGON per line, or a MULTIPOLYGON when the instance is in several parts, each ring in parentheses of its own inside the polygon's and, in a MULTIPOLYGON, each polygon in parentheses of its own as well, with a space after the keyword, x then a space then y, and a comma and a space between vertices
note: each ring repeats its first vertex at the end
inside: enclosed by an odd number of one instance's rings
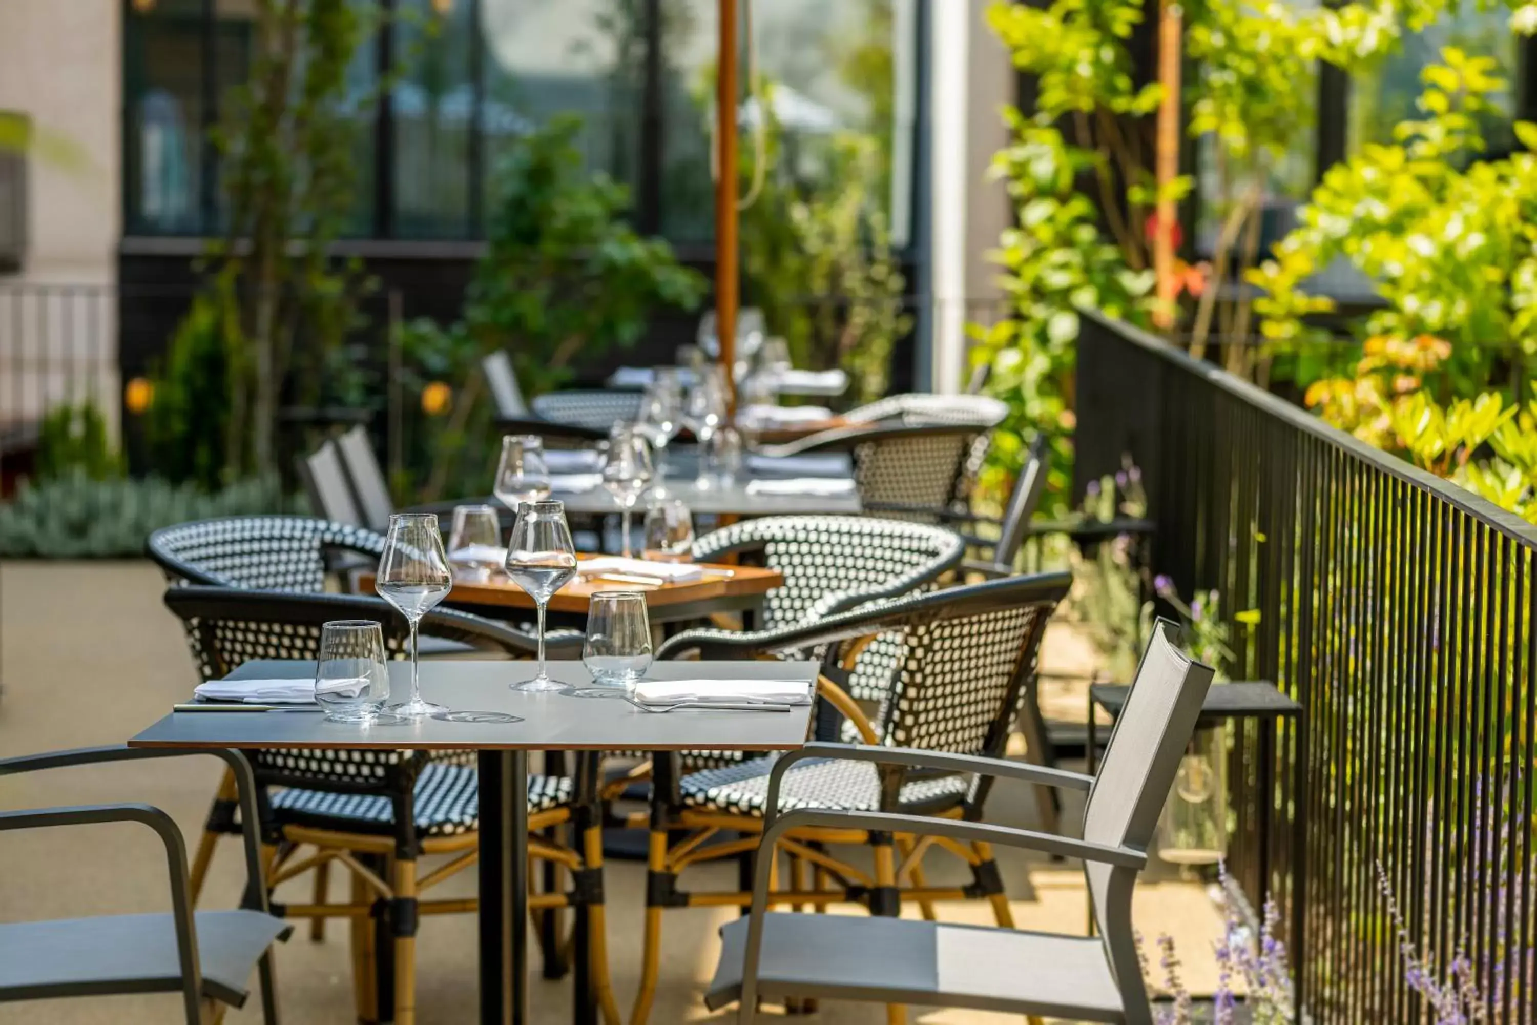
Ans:
MULTIPOLYGON (((690 808, 710 808, 761 818, 768 796, 773 758, 722 765, 682 778, 682 802, 690 808)), ((934 814, 965 799, 967 776, 915 779, 902 787, 901 810, 934 814)), ((779 785, 779 808, 838 808, 876 811, 881 807, 881 778, 870 762, 807 759, 798 762, 779 785)))

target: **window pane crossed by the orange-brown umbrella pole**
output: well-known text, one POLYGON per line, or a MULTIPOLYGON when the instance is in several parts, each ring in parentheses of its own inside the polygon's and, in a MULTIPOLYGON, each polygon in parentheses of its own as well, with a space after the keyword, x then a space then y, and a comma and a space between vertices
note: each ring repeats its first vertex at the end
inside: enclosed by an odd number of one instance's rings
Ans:
MULTIPOLYGON (((718 20, 715 0, 664 0, 662 5, 662 227, 676 240, 713 235, 710 118, 715 103, 718 20)), ((779 174, 799 189, 836 187, 833 143, 848 132, 873 138, 876 195, 905 214, 911 163, 913 78, 907 45, 915 35, 913 0, 773 0, 753 3, 739 20, 744 55, 772 97, 781 131, 779 174), (750 34, 749 34, 750 29, 750 34), (901 154, 898 161, 896 154, 901 154), (901 174, 893 169, 901 166, 901 174)), ((758 98, 741 114, 744 161, 755 144, 758 98)), ((907 218, 899 217, 905 241, 907 218)))

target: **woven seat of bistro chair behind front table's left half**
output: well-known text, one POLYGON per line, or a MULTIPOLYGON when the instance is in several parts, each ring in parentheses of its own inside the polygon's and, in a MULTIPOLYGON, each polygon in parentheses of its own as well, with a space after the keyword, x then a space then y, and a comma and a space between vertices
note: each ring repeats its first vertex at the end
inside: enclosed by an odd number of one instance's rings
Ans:
MULTIPOLYGON (((569 776, 529 776, 529 811, 570 804, 573 791, 569 776)), ((289 788, 274 791, 272 810, 280 822, 318 830, 389 833, 393 825, 383 794, 289 788)), ((429 762, 417 776, 413 811, 421 836, 473 833, 480 828, 480 775, 467 765, 429 762)))

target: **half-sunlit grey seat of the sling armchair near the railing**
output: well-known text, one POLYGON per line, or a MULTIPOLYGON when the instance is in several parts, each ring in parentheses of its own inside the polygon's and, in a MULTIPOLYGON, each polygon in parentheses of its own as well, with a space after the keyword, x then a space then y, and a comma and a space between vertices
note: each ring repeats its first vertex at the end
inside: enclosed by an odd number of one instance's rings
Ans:
MULTIPOLYGON (((705 993, 718 1010, 741 996, 749 919, 721 930, 705 993)), ((759 993, 770 999, 879 1000, 1124 1022, 1099 939, 844 914, 765 914, 759 993)))

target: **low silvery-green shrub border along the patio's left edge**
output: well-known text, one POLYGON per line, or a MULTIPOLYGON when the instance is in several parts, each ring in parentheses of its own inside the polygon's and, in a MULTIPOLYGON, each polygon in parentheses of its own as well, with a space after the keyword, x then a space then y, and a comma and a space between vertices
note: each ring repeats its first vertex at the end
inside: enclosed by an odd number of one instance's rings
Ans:
POLYGON ((204 493, 160 478, 92 479, 81 467, 23 483, 0 506, 0 558, 137 558, 152 530, 206 519, 295 512, 275 479, 246 479, 204 493))

